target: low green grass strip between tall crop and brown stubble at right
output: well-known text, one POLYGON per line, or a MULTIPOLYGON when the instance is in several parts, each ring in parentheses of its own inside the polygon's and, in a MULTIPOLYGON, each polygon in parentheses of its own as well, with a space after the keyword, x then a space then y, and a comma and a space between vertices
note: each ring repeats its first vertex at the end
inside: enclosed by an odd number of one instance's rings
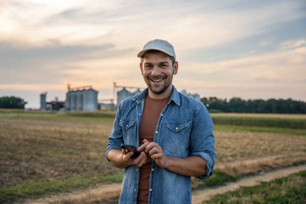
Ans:
POLYGON ((306 129, 291 129, 286 127, 260 127, 230 124, 214 124, 213 129, 217 131, 251 131, 251 132, 270 132, 281 134, 306 135, 306 129))

